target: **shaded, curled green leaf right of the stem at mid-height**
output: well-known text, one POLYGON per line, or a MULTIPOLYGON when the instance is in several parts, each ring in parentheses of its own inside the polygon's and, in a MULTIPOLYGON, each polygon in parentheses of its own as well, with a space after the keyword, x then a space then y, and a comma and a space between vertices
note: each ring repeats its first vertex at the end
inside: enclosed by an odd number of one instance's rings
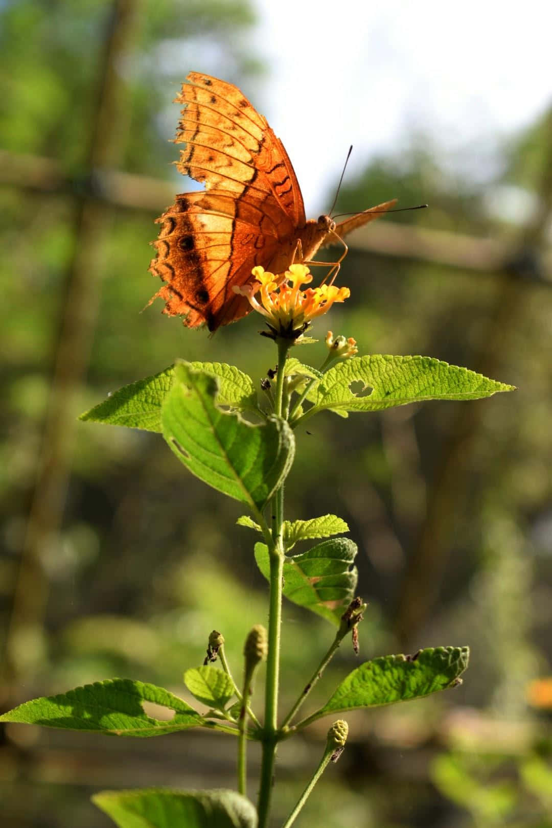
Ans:
MULTIPOLYGON (((347 537, 324 541, 308 552, 284 561, 284 595, 294 604, 310 609, 339 626, 341 616, 354 597, 358 573, 351 568, 357 546, 347 537)), ((268 547, 255 544, 255 560, 268 580, 268 547)))

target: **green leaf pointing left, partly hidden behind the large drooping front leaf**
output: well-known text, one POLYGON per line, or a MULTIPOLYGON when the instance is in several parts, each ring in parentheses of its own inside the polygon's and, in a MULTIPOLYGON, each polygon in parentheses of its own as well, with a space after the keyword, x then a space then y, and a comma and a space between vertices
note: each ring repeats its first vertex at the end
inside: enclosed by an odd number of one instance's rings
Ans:
MULTIPOLYGON (((257 392, 252 378, 247 374, 224 363, 193 362, 190 365, 218 379, 219 406, 257 411, 257 392)), ((174 367, 170 366, 153 377, 125 385, 113 392, 107 400, 81 414, 79 420, 161 432, 161 407, 170 391, 174 375, 174 367)))

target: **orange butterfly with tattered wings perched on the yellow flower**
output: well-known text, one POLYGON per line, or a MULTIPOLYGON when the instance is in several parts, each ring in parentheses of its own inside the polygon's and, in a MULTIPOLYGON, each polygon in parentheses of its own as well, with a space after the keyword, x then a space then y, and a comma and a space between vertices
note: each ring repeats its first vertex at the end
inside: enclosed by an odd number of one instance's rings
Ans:
MULTIPOLYGON (((279 138, 238 87, 190 72, 176 98, 184 103, 175 143, 185 143, 176 166, 204 181, 205 190, 177 195, 157 222, 150 272, 166 285, 153 299, 185 325, 209 330, 252 308, 233 286, 252 281, 252 268, 281 273, 312 262, 319 248, 385 212, 386 201, 336 224, 328 215, 305 218, 299 182, 279 138)), ((345 247, 345 253, 347 248, 345 247)), ((339 262, 326 262, 336 268, 339 262)), ((153 301, 153 299, 151 301, 153 301)))

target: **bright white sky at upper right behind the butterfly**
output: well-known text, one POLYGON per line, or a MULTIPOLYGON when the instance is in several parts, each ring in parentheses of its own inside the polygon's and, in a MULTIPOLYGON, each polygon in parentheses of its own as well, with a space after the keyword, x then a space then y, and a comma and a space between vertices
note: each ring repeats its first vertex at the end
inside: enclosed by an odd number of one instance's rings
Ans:
POLYGON ((348 179, 412 132, 485 177, 497 139, 552 103, 552 4, 545 0, 252 0, 268 67, 244 93, 281 137, 307 217, 353 144, 348 179))

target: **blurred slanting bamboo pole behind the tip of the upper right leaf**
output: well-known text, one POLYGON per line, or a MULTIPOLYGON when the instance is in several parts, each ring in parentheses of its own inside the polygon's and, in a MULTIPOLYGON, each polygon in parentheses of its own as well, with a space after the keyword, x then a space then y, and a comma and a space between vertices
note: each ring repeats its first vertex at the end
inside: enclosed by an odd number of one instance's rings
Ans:
MULTIPOLYGON (((552 110, 548 119, 550 142, 535 187, 538 207, 521 231, 516 248, 502 262, 494 313, 473 366, 488 377, 500 374, 508 335, 524 313, 529 287, 545 282, 546 231, 552 219, 552 110)), ((425 522, 410 555, 397 604, 395 633, 402 647, 416 642, 439 595, 450 542, 462 520, 468 455, 483 413, 481 402, 471 402, 468 407, 458 405, 449 440, 441 451, 429 491, 425 522)))

